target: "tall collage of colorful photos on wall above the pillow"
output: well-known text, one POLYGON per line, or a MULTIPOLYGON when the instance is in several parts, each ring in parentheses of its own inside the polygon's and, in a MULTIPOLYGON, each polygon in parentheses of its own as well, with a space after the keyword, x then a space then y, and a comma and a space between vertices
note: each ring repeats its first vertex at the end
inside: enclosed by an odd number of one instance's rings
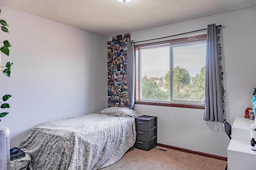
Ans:
POLYGON ((108 107, 129 107, 127 94, 127 42, 131 33, 108 42, 108 107))

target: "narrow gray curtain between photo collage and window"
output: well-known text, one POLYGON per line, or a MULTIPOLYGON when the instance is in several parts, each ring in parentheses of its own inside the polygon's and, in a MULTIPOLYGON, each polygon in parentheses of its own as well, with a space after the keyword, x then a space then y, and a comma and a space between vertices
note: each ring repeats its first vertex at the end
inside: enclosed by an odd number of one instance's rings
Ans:
POLYGON ((135 63, 134 63, 134 42, 127 42, 127 93, 130 102, 130 109, 134 108, 135 93, 135 63))

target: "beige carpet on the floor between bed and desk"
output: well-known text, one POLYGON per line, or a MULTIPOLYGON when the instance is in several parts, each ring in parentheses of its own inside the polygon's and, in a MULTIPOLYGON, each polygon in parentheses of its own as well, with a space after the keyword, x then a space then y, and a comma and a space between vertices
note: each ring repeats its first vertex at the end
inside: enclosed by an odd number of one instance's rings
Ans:
POLYGON ((224 160, 156 146, 150 151, 130 148, 118 162, 100 170, 224 170, 226 164, 224 160))

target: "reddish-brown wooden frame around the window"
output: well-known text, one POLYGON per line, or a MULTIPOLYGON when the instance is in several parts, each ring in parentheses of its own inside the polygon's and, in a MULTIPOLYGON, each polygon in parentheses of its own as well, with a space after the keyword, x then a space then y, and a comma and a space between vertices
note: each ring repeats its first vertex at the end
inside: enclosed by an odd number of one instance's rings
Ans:
MULTIPOLYGON (((135 52, 135 56, 134 56, 135 57, 135 104, 204 109, 204 103, 203 104, 188 104, 189 102, 188 103, 177 103, 178 100, 175 100, 176 102, 140 100, 139 48, 147 47, 147 46, 154 46, 154 45, 163 45, 164 46, 166 44, 172 44, 172 43, 190 43, 190 42, 199 41, 199 40, 206 40, 206 34, 202 34, 202 35, 198 35, 198 36, 184 37, 184 38, 176 38, 176 39, 164 40, 164 41, 158 41, 158 42, 152 42, 152 43, 143 43, 143 44, 141 43, 138 45, 135 44, 134 45, 134 52, 135 52)), ((172 52, 172 51, 170 51, 170 52, 172 52)), ((173 75, 172 75, 172 79, 173 79, 173 75)))

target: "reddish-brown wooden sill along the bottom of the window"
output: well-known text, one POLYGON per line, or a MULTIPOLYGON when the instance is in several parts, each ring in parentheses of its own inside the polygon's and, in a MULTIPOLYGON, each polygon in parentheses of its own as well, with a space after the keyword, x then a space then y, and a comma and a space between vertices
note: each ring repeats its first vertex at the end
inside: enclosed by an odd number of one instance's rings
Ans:
POLYGON ((134 103, 139 104, 139 105, 155 105, 155 106, 169 106, 169 107, 185 107, 185 108, 192 108, 192 109, 204 109, 204 105, 157 103, 157 102, 145 102, 145 101, 135 101, 134 103))

